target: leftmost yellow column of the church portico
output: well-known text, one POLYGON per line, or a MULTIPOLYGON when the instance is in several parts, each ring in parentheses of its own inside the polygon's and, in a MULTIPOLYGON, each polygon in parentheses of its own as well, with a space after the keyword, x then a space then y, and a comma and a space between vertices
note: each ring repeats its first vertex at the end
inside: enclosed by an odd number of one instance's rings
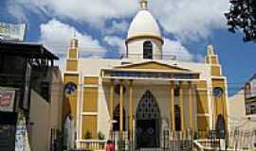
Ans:
MULTIPOLYGON (((110 136, 112 136, 113 132, 113 114, 114 114, 114 79, 110 81, 110 89, 109 89, 109 114, 110 114, 110 136)), ((111 139, 113 139, 111 137, 111 139)))

